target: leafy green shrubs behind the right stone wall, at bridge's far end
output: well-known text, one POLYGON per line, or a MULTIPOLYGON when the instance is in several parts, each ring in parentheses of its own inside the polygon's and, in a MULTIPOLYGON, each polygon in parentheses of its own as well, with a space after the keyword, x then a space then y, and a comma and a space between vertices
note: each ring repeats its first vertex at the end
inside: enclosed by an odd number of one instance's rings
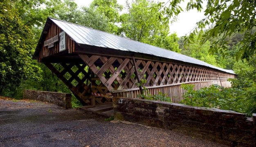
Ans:
MULTIPOLYGON (((236 35, 237 36, 237 35, 236 35)), ((232 49, 230 53, 234 54, 239 45, 236 41, 239 38, 231 38, 232 49), (232 43, 233 42, 233 43, 232 43), (235 42, 235 43, 234 43, 235 42)), ((222 58, 223 59, 223 58, 222 58)), ((227 63, 227 58, 223 59, 223 63, 227 63)), ((231 67, 238 78, 229 79, 231 88, 223 88, 218 85, 212 85, 195 91, 193 85, 182 85, 186 90, 184 94, 183 104, 199 107, 213 107, 219 109, 233 110, 245 113, 251 116, 256 112, 256 57, 249 61, 232 62, 231 67)), ((220 63, 220 62, 219 62, 220 63)))

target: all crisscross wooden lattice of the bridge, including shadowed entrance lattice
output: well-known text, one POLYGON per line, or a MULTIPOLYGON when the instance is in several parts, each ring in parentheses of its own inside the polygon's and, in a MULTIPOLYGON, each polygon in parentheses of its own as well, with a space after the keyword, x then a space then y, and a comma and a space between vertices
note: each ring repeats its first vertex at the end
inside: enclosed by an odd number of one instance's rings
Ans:
POLYGON ((137 83, 141 79, 146 80, 143 86, 156 87, 234 78, 234 75, 210 69, 136 58, 132 60, 132 57, 78 54, 78 58, 81 62, 44 63, 83 105, 111 102, 111 94, 114 95, 115 91, 121 89, 137 89, 137 83), (99 95, 93 95, 95 93, 99 95))

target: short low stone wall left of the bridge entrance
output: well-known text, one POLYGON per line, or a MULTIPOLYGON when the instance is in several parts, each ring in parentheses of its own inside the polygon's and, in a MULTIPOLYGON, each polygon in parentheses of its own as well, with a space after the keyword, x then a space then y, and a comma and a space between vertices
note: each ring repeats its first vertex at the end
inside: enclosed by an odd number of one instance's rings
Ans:
POLYGON ((50 91, 24 90, 23 98, 50 102, 66 109, 72 108, 71 94, 50 91))

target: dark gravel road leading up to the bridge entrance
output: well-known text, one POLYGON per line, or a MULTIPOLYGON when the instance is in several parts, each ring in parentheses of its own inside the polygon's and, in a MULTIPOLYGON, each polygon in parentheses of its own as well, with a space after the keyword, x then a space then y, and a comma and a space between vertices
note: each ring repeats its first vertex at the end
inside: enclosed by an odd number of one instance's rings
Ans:
POLYGON ((105 118, 44 102, 0 99, 0 147, 224 147, 176 131, 105 118))

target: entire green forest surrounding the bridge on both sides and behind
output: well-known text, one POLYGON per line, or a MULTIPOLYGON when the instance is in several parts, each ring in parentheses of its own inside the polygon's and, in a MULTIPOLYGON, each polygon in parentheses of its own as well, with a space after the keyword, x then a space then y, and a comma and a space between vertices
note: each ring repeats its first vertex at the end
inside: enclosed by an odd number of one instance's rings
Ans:
MULTIPOLYGON (((181 11, 202 10, 201 0, 189 1, 186 10, 179 7, 181 1, 167 4, 133 0, 122 6, 117 0, 93 0, 88 7, 78 7, 72 0, 2 0, 0 95, 22 98, 23 89, 71 93, 45 65, 31 59, 49 16, 233 69, 238 79, 231 81, 231 88, 215 85, 194 91, 193 87, 184 85, 188 92, 182 102, 248 115, 255 113, 256 2, 208 0, 206 18, 198 22, 189 36, 178 38, 175 33, 169 33, 169 22, 175 21, 181 11), (121 14, 123 9, 128 11, 121 14)), ((76 98, 72 104, 81 105, 76 98)))

